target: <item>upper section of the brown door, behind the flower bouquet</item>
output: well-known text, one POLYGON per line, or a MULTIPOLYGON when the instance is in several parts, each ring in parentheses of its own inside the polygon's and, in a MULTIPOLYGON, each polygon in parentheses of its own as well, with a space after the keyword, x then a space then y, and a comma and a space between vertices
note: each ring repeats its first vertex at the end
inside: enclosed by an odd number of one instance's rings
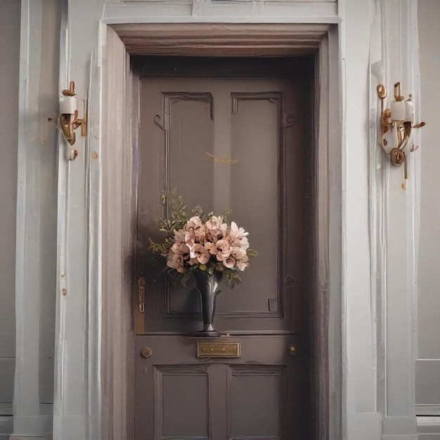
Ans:
MULTIPOLYGON (((290 289, 295 282, 295 291, 301 292, 304 285, 306 152, 298 129, 304 118, 298 91, 285 79, 187 78, 144 79, 142 90, 145 172, 139 185, 139 242, 148 247, 148 237, 160 240, 154 218, 167 212, 161 200, 164 191, 177 188, 189 209, 197 204, 205 212, 231 208, 230 218, 250 231, 259 257, 242 273, 242 285, 230 291, 226 280, 222 282, 216 327, 291 330, 290 289), (297 113, 299 123, 283 127, 283 108, 297 113), (295 243, 295 249, 287 242, 295 243)), ((145 330, 196 330, 194 318, 200 312, 194 284, 189 289, 174 287, 155 273, 146 278, 153 280, 147 295, 158 302, 156 311, 145 314, 145 330)))

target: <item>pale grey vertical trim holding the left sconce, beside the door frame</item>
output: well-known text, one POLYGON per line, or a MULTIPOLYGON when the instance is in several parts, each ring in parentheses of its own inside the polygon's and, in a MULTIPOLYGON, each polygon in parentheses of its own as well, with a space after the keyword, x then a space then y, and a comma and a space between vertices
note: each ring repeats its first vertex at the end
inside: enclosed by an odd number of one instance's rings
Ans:
POLYGON ((79 103, 88 99, 89 127, 85 138, 77 134, 75 161, 58 138, 55 439, 101 439, 101 164, 93 159, 101 148, 101 54, 90 46, 98 43, 91 22, 102 8, 98 1, 80 3, 63 0, 60 29, 58 90, 75 81, 79 103), (88 11, 86 18, 72 18, 76 7, 88 11))

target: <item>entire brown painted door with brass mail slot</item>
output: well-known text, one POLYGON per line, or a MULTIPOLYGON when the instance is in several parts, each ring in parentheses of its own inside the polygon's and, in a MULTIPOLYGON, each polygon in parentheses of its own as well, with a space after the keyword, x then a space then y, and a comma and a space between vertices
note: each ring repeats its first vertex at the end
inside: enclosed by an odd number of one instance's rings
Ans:
POLYGON ((310 102, 300 73, 141 79, 136 440, 309 438, 310 102), (192 335, 202 328, 194 285, 174 287, 141 257, 173 188, 188 211, 231 208, 259 252, 241 285, 221 286, 218 339, 192 335), (240 357, 198 357, 198 342, 238 343, 240 357))

